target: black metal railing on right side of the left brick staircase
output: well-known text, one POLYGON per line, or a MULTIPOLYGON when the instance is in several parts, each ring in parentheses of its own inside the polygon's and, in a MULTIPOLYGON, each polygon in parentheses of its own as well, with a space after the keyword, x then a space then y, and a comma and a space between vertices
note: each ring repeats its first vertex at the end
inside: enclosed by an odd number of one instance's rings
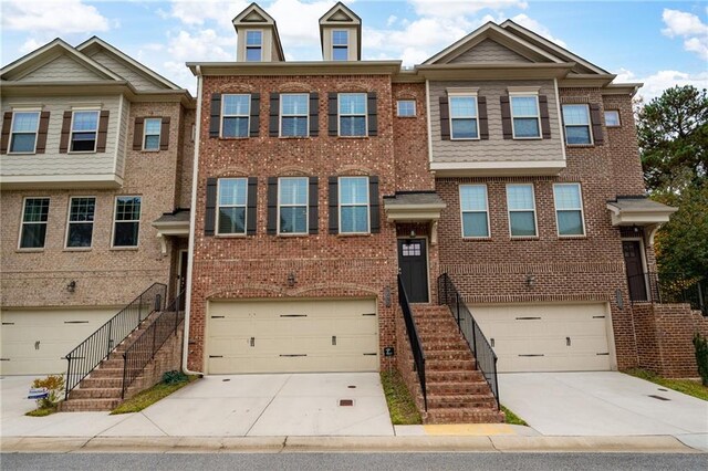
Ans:
POLYGON ((155 358, 155 354, 167 342, 170 335, 177 332, 179 324, 185 320, 184 293, 173 300, 165 311, 159 313, 150 325, 123 353, 123 390, 121 398, 125 398, 125 391, 133 384, 147 364, 155 358))

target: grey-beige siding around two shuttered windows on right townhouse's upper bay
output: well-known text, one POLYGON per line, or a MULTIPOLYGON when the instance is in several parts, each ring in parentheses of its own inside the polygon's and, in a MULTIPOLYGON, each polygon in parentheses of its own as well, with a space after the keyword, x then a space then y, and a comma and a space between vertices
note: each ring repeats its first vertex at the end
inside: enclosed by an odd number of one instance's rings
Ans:
POLYGON ((563 139, 552 81, 430 82, 430 132, 434 163, 563 161, 563 139), (550 139, 503 138, 499 97, 508 95, 508 86, 540 87, 539 94, 549 101, 550 139), (487 97, 488 140, 442 140, 439 98, 446 96, 448 87, 479 87, 478 96, 487 97))

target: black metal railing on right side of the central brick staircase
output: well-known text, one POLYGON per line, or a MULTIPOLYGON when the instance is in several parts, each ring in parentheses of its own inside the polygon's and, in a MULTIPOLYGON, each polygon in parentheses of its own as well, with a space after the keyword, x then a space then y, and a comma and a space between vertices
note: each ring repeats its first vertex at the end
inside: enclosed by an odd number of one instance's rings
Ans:
POLYGON ((494 399, 497 399, 497 408, 500 408, 497 355, 447 273, 438 276, 438 304, 446 304, 450 308, 459 331, 475 356, 475 367, 485 376, 494 399))

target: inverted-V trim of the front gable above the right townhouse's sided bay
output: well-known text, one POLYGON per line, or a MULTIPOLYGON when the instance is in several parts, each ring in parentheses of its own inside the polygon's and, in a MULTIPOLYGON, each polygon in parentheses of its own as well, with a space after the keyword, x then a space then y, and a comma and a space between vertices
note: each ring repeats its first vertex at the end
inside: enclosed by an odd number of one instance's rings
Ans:
POLYGON ((433 64, 447 64, 455 57, 464 54, 470 49, 475 48, 480 42, 490 39, 518 54, 531 60, 532 62, 545 62, 545 63, 563 63, 566 62, 554 54, 549 53, 542 48, 539 48, 531 42, 523 40, 503 28, 497 25, 493 22, 482 24, 461 40, 455 42, 450 46, 435 54, 423 63, 423 65, 433 64))

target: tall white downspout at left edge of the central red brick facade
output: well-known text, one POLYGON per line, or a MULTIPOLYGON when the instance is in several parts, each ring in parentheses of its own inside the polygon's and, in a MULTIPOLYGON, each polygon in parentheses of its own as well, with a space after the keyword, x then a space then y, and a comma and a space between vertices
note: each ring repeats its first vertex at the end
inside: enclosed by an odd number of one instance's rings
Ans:
POLYGON ((183 336, 183 348, 181 348, 181 370, 187 375, 199 375, 204 376, 202 371, 192 371, 187 366, 187 358, 189 357, 189 317, 191 314, 191 283, 194 278, 191 276, 194 272, 195 264, 195 228, 197 222, 197 184, 199 176, 199 140, 201 136, 201 86, 202 86, 202 76, 201 76, 201 67, 197 65, 197 116, 195 118, 196 123, 196 132, 195 132, 195 159, 191 169, 191 202, 190 202, 190 211, 189 211, 189 257, 187 259, 187 279, 189 283, 187 283, 187 300, 185 301, 185 333, 183 336))

